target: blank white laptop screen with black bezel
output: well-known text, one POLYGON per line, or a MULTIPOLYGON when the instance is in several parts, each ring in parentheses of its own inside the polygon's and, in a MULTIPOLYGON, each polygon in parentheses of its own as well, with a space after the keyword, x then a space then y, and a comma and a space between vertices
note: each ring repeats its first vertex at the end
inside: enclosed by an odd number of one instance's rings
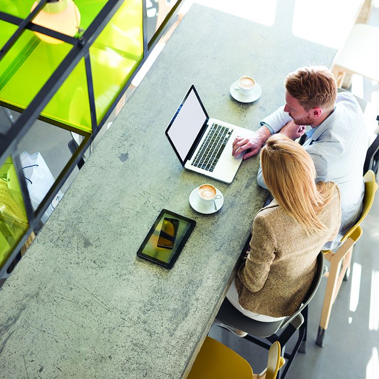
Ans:
POLYGON ((207 118, 208 115, 197 96, 195 87, 191 86, 166 129, 166 134, 182 162, 207 118))

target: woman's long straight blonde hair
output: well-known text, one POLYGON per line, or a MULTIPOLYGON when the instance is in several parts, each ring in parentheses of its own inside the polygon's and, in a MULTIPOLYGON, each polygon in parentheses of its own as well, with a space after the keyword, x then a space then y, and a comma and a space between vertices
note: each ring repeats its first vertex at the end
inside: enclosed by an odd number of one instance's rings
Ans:
POLYGON ((307 234, 326 228, 318 216, 331 200, 336 184, 315 183, 312 158, 301 145, 285 135, 272 135, 261 150, 261 166, 272 196, 307 234))

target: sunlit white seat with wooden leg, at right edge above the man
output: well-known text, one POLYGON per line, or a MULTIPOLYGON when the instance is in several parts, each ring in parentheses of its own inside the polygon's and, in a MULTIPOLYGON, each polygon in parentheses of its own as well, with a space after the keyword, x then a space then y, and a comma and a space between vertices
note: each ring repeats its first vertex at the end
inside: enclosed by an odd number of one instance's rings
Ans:
POLYGON ((378 28, 365 24, 353 26, 332 70, 338 87, 342 86, 346 74, 359 74, 379 81, 378 40, 378 28))

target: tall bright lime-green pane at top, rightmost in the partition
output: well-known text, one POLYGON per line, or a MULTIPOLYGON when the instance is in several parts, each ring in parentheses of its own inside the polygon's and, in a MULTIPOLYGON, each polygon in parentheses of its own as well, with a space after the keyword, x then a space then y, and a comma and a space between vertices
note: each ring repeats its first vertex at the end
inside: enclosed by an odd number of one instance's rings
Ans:
POLYGON ((125 0, 90 47, 97 122, 142 57, 142 1, 125 0))

